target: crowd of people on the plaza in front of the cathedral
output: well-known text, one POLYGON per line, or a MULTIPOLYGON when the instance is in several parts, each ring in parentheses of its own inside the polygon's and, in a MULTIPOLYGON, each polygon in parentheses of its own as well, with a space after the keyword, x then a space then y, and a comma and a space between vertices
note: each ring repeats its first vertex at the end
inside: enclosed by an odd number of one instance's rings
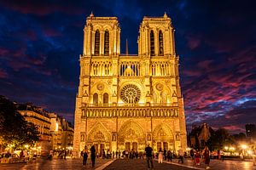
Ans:
MULTIPOLYGON (((254 150, 255 151, 255 150, 254 150)), ((222 150, 218 150, 218 155, 213 156, 213 153, 206 146, 204 150, 195 150, 191 149, 189 151, 184 151, 181 148, 175 151, 171 150, 158 150, 158 152, 154 152, 153 149, 148 145, 145 148, 144 152, 137 152, 137 150, 123 150, 123 151, 113 151, 102 150, 101 154, 96 153, 95 146, 92 145, 90 150, 87 146, 84 146, 84 150, 81 151, 81 157, 83 157, 83 165, 86 166, 86 162, 88 157, 90 156, 92 167, 95 167, 96 158, 102 159, 145 159, 147 160, 148 169, 154 168, 153 160, 158 160, 158 163, 163 163, 163 161, 172 161, 172 159, 178 159, 178 163, 183 164, 184 158, 192 159, 192 162, 195 166, 200 166, 201 163, 206 165, 206 168, 210 168, 210 160, 213 158, 224 161, 224 152, 222 150)), ((255 157, 256 152, 253 155, 253 165, 256 165, 255 157)))

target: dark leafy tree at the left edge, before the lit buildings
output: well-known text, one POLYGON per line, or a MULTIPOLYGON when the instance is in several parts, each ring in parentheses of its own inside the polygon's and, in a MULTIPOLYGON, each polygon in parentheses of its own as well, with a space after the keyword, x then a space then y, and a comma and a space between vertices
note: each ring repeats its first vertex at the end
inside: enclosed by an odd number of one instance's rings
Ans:
POLYGON ((38 129, 26 122, 16 111, 15 104, 0 96, 0 137, 4 144, 14 144, 15 148, 23 144, 34 144, 39 140, 38 129))

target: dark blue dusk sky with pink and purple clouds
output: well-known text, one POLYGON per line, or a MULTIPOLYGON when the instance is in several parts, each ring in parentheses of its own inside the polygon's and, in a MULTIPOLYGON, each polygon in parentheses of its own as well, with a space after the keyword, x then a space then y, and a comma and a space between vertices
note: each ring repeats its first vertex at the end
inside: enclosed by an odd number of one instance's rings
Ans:
POLYGON ((256 123, 255 1, 0 1, 0 94, 73 122, 86 17, 116 16, 137 54, 143 16, 166 12, 175 27, 187 126, 231 133, 256 123))

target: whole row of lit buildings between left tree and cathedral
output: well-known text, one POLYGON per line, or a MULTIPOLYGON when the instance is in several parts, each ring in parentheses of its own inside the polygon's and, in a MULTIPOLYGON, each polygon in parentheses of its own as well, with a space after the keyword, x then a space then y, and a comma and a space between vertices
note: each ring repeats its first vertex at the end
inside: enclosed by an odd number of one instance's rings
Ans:
POLYGON ((49 150, 71 149, 73 127, 63 117, 44 111, 43 108, 28 104, 16 104, 17 111, 38 127, 39 142, 35 149, 38 154, 47 155, 49 150))

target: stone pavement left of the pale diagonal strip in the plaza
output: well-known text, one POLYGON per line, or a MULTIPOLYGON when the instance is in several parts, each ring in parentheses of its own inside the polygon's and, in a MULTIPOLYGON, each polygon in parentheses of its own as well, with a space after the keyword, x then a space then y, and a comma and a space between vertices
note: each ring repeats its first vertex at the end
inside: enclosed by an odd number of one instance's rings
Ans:
MULTIPOLYGON (((108 161, 107 159, 96 159, 96 167, 101 167, 108 161)), ((37 161, 29 162, 29 163, 9 163, 9 164, 0 164, 0 169, 12 169, 12 170, 51 170, 51 169, 59 169, 59 170, 84 170, 84 169, 93 169, 91 167, 91 161, 88 159, 87 166, 84 167, 82 165, 82 159, 53 159, 52 161, 38 159, 37 161)))

